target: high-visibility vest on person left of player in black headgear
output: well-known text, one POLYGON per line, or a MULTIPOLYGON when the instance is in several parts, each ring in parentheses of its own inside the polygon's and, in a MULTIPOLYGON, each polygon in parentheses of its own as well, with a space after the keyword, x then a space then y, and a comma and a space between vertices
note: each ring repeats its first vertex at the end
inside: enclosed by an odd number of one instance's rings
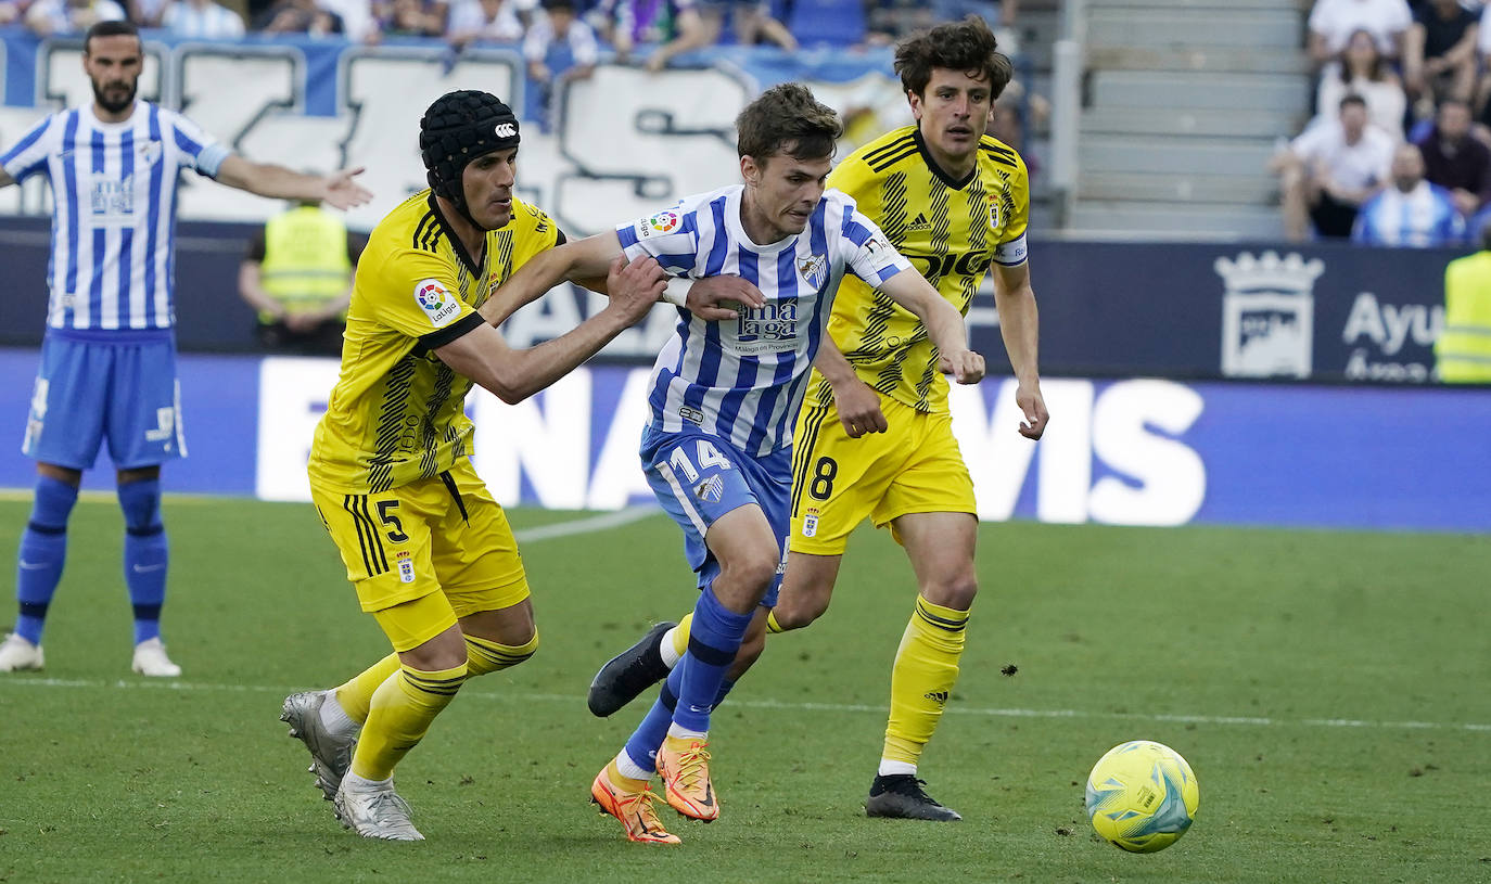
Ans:
MULTIPOLYGON (((316 206, 298 206, 264 225, 259 285, 289 313, 315 310, 346 294, 352 282, 347 225, 316 206)), ((259 313, 259 321, 273 322, 259 313)))

